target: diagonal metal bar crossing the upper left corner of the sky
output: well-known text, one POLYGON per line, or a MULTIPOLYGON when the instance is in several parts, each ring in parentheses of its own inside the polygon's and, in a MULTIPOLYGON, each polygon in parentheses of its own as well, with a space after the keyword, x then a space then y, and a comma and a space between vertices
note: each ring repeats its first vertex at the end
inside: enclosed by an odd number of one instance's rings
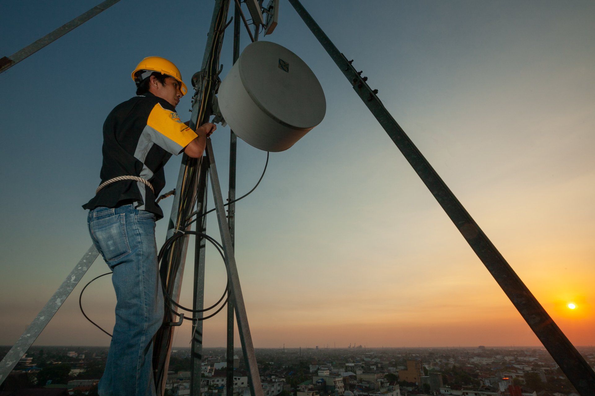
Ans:
POLYGON ((52 31, 52 33, 46 34, 36 42, 33 42, 30 45, 24 47, 23 49, 13 53, 11 56, 4 56, 2 59, 0 59, 0 73, 10 69, 12 66, 18 64, 18 62, 22 61, 28 56, 33 55, 46 45, 51 44, 55 40, 60 39, 60 37, 64 36, 64 34, 68 33, 76 27, 81 26, 86 21, 95 17, 95 15, 101 14, 101 12, 116 4, 118 1, 120 0, 106 0, 96 5, 95 7, 89 9, 89 11, 85 12, 84 14, 81 14, 78 17, 74 18, 70 22, 58 27, 56 30, 52 31))

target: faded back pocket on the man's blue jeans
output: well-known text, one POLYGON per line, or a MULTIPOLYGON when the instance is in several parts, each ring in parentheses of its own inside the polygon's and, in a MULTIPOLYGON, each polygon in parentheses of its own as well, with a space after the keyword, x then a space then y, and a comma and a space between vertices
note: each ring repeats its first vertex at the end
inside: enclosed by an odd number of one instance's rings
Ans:
POLYGON ((130 254, 124 213, 93 220, 89 228, 105 261, 117 261, 130 254))

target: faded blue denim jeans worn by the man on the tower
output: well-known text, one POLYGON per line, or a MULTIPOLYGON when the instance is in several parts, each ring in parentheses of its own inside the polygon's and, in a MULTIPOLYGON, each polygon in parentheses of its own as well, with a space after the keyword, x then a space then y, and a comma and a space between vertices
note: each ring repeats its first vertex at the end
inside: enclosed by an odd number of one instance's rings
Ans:
POLYGON ((89 211, 89 233, 114 271, 117 304, 100 396, 154 396, 153 337, 164 302, 157 263, 154 214, 132 204, 89 211))

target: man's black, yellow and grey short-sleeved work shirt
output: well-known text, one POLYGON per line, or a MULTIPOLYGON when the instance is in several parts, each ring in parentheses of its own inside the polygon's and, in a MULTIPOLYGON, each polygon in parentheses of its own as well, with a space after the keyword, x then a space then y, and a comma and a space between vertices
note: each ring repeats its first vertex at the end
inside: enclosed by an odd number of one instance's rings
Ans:
POLYGON ((165 99, 146 93, 118 104, 104 123, 101 182, 139 176, 148 180, 155 192, 142 182, 120 180, 101 189, 83 208, 112 208, 136 201, 137 209, 162 218, 155 199, 165 186, 163 167, 172 154, 181 153, 195 138, 195 132, 180 121, 175 107, 165 99))

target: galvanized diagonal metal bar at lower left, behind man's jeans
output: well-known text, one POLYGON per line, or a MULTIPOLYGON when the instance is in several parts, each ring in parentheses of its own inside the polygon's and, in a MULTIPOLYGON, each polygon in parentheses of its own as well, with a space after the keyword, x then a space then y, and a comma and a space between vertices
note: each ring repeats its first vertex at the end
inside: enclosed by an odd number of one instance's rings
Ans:
POLYGON ((2 362, 0 362, 0 385, 2 385, 2 382, 4 382, 12 369, 14 369, 14 366, 17 365, 18 360, 27 353, 29 347, 37 340, 39 334, 48 325, 55 313, 58 312, 62 303, 70 296, 74 287, 79 284, 79 281, 87 270, 89 270, 89 267, 91 267, 91 264, 93 264, 93 261, 95 261, 98 255, 99 252, 95 249, 95 245, 91 245, 77 265, 74 266, 73 270, 70 271, 70 274, 68 274, 60 287, 58 287, 58 290, 49 298, 41 311, 37 313, 33 322, 27 326, 21 337, 18 337, 17 342, 8 351, 6 356, 4 356, 2 362))

